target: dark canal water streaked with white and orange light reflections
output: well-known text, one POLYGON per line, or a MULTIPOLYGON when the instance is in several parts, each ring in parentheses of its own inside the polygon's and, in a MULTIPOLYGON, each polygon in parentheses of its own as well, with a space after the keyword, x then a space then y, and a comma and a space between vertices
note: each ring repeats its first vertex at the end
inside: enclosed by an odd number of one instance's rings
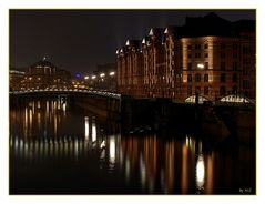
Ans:
POLYGON ((255 144, 174 129, 121 133, 68 101, 11 106, 10 194, 256 193, 255 144))

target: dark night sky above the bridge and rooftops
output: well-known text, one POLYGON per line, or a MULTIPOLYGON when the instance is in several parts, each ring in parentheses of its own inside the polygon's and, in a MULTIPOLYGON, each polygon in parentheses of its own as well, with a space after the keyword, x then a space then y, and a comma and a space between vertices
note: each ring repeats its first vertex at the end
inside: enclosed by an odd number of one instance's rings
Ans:
MULTIPOLYGON (((213 10, 10 10, 10 65, 28 68, 47 55, 61 69, 91 73, 115 61, 126 39, 141 40, 151 27, 182 26, 185 17, 213 10)), ((236 21, 255 10, 218 10, 236 21)))

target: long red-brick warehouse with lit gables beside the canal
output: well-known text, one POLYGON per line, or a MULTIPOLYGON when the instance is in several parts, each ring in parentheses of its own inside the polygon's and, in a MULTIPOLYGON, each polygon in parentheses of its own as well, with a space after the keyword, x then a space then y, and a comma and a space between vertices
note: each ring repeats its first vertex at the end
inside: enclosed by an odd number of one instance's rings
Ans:
POLYGON ((152 28, 116 51, 118 91, 134 98, 183 101, 238 94, 255 99, 255 21, 208 13, 182 27, 152 28))

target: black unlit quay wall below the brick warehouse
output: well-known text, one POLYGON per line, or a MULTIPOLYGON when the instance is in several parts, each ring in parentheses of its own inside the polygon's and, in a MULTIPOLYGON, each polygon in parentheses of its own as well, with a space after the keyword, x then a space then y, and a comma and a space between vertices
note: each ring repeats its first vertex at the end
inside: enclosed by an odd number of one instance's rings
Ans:
POLYGON ((177 129, 191 130, 210 141, 213 136, 222 141, 233 135, 242 142, 255 142, 255 105, 195 105, 174 103, 169 99, 135 100, 123 96, 121 119, 123 132, 146 129, 171 132, 177 129))

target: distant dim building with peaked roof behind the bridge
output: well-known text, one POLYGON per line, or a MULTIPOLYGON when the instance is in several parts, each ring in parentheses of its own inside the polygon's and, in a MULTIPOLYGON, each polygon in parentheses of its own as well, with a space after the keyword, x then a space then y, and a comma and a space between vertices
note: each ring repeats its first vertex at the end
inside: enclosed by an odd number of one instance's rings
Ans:
POLYGON ((23 89, 47 89, 57 88, 64 89, 71 85, 71 74, 65 70, 61 70, 51 62, 43 60, 38 61, 26 72, 24 79, 21 81, 23 89))

